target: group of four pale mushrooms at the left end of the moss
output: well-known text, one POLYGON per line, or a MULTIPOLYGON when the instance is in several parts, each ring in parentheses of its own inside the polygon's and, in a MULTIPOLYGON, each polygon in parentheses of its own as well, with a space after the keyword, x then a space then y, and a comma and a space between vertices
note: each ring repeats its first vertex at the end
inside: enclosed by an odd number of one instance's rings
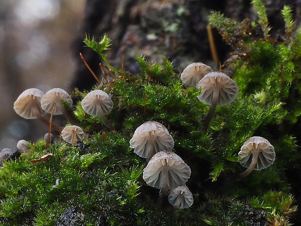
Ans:
MULTIPOLYGON (((81 127, 75 125, 77 120, 70 114, 68 107, 73 104, 70 95, 61 88, 50 89, 47 93, 37 88, 29 88, 22 92, 14 103, 14 110, 24 119, 38 119, 47 124, 49 134, 45 137, 51 140, 51 128, 61 133, 62 138, 75 145, 78 141, 82 141, 85 137, 81 127), (67 106, 66 106, 67 105, 67 106), (45 112, 50 113, 50 120, 45 118, 45 112), (66 127, 61 127, 52 123, 53 115, 64 115, 65 118, 72 124, 66 127)), ((112 124, 105 117, 113 108, 111 97, 102 90, 94 90, 89 92, 82 100, 84 111, 92 116, 100 116, 104 124, 113 130, 112 124)))

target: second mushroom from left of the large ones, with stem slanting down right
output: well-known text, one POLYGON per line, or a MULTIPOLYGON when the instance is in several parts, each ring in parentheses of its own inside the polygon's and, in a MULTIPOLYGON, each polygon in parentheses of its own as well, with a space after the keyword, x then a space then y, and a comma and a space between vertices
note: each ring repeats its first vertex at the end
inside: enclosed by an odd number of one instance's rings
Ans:
POLYGON ((65 101, 69 106, 72 106, 72 99, 64 89, 53 88, 42 97, 41 107, 49 114, 51 114, 53 110, 53 115, 63 114, 69 122, 76 123, 74 117, 69 113, 62 101, 65 101))

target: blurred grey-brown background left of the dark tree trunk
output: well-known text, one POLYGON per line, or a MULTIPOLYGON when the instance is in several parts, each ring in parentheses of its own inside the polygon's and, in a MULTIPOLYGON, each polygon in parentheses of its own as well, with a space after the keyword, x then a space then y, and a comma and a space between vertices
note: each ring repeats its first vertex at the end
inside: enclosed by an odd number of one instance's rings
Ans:
POLYGON ((37 120, 19 117, 13 103, 27 88, 68 90, 84 5, 84 0, 0 0, 0 150, 16 150, 18 140, 35 141, 47 132, 37 120))

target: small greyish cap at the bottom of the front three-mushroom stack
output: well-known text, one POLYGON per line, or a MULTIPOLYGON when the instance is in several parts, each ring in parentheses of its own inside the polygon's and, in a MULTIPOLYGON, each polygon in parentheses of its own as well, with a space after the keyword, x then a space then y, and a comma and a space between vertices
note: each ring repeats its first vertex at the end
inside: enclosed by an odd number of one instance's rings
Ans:
POLYGON ((175 208, 184 209, 191 207, 193 196, 186 185, 180 185, 170 191, 168 201, 175 208))

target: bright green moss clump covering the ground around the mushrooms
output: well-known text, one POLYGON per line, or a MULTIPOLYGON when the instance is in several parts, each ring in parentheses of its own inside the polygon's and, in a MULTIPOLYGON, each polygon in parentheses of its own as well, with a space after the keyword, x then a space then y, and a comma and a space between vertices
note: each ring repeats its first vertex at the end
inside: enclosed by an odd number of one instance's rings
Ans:
MULTIPOLYGON (((200 90, 185 87, 172 63, 137 57, 139 75, 109 66, 104 51, 110 40, 85 38, 108 64, 101 84, 112 96, 108 131, 100 117, 87 115, 81 102, 70 108, 86 137, 75 146, 38 140, 29 153, 0 168, 0 225, 84 226, 263 226, 296 222, 300 179, 300 44, 290 8, 283 10, 285 40, 269 36, 261 1, 253 0, 259 19, 237 23, 212 12, 210 23, 233 48, 224 63, 240 91, 237 99, 217 107, 208 132, 203 119, 210 106, 198 101, 200 90), (261 30, 262 35, 257 31, 261 30), (109 78, 110 77, 110 78, 109 78), (194 195, 189 209, 174 209, 167 197, 146 185, 146 166, 130 148, 134 130, 143 122, 164 124, 175 141, 174 151, 191 168, 186 183, 194 195), (262 171, 239 179, 244 169, 238 152, 251 136, 267 138, 276 160, 262 171), (52 157, 31 163, 46 153, 52 157), (292 174, 292 172, 294 172, 292 174)), ((90 90, 75 89, 81 100, 90 90)), ((42 137, 42 135, 41 135, 42 137)), ((300 222, 299 222, 300 223, 300 222)))

